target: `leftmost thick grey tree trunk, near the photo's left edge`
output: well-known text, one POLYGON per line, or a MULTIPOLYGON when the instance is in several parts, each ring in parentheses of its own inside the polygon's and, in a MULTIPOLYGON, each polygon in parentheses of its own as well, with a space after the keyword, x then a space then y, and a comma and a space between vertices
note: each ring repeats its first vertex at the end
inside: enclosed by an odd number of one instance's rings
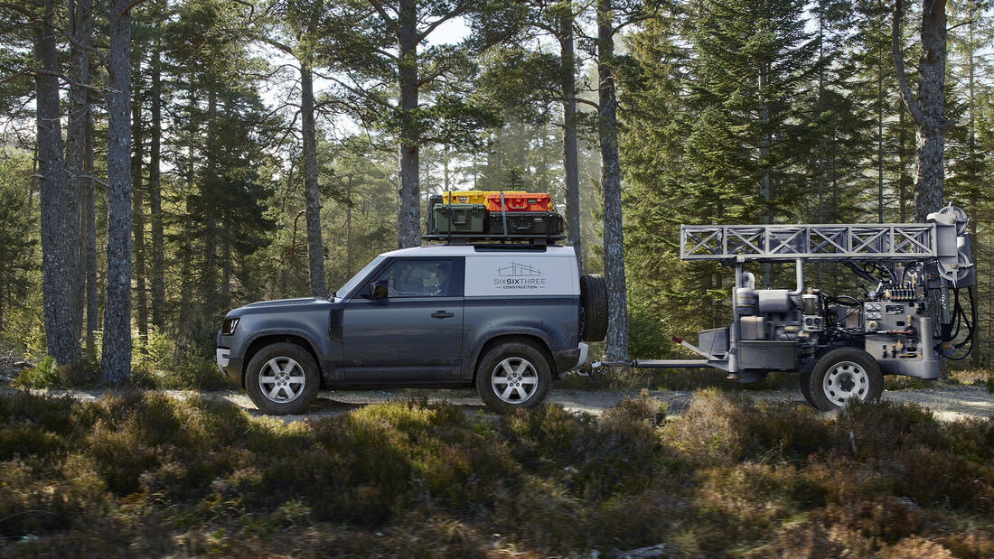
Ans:
MULTIPOLYGON (((59 53, 54 28, 55 5, 45 5, 45 16, 35 42, 35 57, 46 72, 35 73, 37 86, 38 172, 41 175, 42 297, 49 354, 60 364, 74 362, 80 353, 76 320, 76 268, 79 251, 70 228, 78 219, 76 194, 67 189, 60 123, 59 53)), ((75 184, 73 185, 75 187, 75 184)))

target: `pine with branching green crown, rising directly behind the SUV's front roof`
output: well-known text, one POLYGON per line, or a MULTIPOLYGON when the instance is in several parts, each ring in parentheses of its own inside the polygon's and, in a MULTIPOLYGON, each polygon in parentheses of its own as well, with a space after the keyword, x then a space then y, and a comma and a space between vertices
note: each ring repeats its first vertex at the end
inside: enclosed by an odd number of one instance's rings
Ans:
POLYGON ((481 0, 369 3, 372 16, 355 20, 352 34, 342 38, 355 52, 340 61, 353 79, 338 81, 343 97, 351 96, 363 105, 363 116, 374 115, 381 126, 397 134, 398 244, 416 246, 420 244, 420 146, 442 138, 453 145, 472 144, 476 131, 497 124, 491 111, 467 98, 466 88, 448 83, 470 78, 475 72, 470 55, 503 40, 522 10, 516 2, 481 0), (469 20, 473 37, 458 46, 426 45, 439 26, 457 18, 469 20), (369 85, 376 82, 381 86, 369 85))

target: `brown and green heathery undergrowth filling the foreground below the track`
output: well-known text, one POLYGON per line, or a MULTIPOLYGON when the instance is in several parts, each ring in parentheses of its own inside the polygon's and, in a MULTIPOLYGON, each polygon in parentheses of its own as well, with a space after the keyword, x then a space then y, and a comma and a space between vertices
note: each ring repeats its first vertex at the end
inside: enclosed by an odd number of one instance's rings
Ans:
POLYGON ((667 417, 420 401, 284 425, 199 398, 0 396, 0 555, 994 555, 994 421, 714 390, 667 417))

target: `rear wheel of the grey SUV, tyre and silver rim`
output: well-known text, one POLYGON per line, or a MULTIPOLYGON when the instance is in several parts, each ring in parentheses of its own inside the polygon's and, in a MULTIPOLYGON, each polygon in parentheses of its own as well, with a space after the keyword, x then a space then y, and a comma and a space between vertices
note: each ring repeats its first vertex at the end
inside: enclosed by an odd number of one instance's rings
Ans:
POLYGON ((525 341, 487 349, 476 364, 476 392, 499 413, 538 407, 552 379, 545 351, 525 341))

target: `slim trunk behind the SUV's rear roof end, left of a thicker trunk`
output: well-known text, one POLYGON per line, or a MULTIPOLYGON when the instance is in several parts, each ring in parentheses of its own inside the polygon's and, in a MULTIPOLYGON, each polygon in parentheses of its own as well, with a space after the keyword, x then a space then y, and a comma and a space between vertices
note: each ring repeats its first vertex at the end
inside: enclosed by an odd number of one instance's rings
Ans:
POLYGON ((570 244, 577 251, 577 263, 583 272, 580 244, 580 163, 577 148, 577 77, 574 74, 573 6, 560 20, 560 46, 563 57, 563 174, 566 186, 566 223, 570 244))

